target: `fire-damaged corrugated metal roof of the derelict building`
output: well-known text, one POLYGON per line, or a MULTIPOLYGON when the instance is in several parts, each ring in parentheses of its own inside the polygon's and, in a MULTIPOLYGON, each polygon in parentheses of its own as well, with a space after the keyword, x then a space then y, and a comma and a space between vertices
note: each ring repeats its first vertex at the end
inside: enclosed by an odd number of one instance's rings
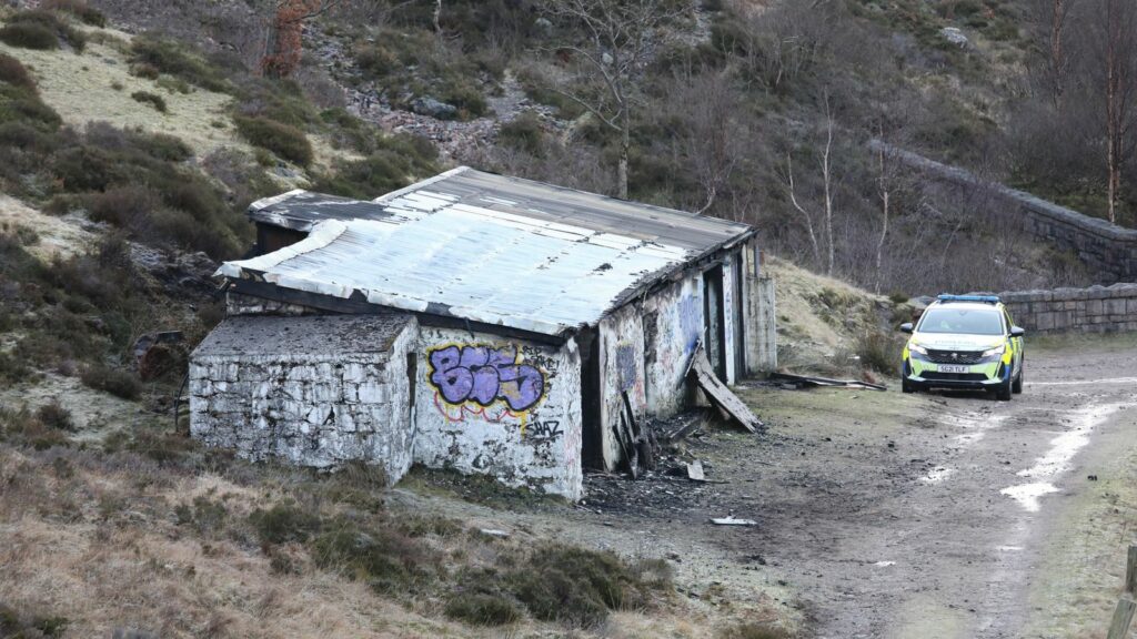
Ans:
POLYGON ((595 324, 639 287, 752 232, 467 168, 374 202, 300 191, 250 215, 309 236, 217 274, 549 335, 595 324))

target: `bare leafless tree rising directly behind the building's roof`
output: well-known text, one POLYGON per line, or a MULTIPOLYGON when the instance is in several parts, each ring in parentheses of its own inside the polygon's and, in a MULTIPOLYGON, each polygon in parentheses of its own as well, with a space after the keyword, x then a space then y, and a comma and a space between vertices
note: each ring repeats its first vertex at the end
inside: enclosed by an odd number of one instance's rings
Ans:
POLYGON ((619 135, 617 190, 628 199, 632 109, 642 70, 665 36, 665 26, 688 10, 686 0, 549 0, 545 11, 583 38, 555 48, 582 67, 574 86, 553 86, 619 135))

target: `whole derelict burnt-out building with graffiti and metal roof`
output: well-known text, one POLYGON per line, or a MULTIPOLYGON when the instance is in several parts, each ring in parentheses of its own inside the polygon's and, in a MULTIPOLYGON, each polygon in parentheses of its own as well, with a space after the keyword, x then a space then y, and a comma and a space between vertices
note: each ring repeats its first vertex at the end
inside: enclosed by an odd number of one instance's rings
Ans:
POLYGON ((254 204, 229 317, 190 362, 191 433, 247 457, 412 463, 576 499, 621 415, 674 414, 699 345, 758 366, 755 231, 457 168, 374 201, 254 204))

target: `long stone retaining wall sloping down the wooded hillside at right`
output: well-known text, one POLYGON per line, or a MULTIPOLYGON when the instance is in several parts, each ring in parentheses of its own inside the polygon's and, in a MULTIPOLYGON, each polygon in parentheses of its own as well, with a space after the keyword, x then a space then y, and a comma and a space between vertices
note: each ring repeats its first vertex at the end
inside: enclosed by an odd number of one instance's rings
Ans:
POLYGON ((946 182, 984 189, 995 198, 1023 214, 1026 231, 1035 239, 1071 251, 1086 265, 1093 281, 1099 284, 1137 282, 1137 230, 1082 215, 1076 210, 1036 198, 1030 193, 987 182, 955 166, 928 159, 918 153, 883 146, 904 164, 946 182))

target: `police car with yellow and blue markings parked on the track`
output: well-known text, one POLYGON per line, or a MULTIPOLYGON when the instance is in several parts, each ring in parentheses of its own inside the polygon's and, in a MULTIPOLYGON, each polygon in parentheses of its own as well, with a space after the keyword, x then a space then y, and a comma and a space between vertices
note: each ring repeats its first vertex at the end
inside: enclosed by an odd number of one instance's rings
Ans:
POLYGON ((1024 331, 997 296, 939 296, 901 331, 912 333, 903 352, 904 392, 981 389, 1001 400, 1022 392, 1024 331))

